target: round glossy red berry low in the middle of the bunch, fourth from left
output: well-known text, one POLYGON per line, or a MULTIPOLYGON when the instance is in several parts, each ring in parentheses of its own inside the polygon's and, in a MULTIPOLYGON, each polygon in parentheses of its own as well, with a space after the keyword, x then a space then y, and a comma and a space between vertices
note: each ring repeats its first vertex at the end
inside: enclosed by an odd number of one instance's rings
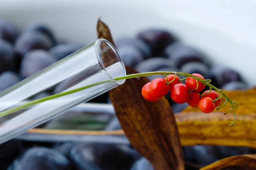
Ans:
POLYGON ((189 89, 185 84, 176 84, 171 88, 171 98, 176 103, 186 103, 190 99, 189 89))

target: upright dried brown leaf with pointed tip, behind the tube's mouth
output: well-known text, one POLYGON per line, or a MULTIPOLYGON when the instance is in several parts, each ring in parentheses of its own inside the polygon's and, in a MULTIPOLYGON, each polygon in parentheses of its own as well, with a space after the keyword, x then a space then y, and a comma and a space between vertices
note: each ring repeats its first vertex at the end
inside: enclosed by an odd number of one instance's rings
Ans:
MULTIPOLYGON (((105 23, 99 20, 97 28, 99 38, 113 43, 105 23)), ((137 73, 129 67, 126 72, 137 73)), ((145 77, 127 79, 123 85, 109 91, 116 116, 131 144, 155 170, 184 170, 183 151, 172 108, 165 98, 159 102, 143 99, 141 88, 147 82, 145 77)))

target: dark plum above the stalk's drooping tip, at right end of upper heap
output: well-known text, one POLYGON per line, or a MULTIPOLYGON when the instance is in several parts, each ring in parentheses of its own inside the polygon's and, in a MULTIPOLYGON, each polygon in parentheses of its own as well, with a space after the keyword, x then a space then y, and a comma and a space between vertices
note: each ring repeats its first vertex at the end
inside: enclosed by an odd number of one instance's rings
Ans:
POLYGON ((229 82, 243 82, 241 75, 237 71, 220 65, 214 65, 210 69, 208 79, 211 79, 212 85, 218 88, 229 82))

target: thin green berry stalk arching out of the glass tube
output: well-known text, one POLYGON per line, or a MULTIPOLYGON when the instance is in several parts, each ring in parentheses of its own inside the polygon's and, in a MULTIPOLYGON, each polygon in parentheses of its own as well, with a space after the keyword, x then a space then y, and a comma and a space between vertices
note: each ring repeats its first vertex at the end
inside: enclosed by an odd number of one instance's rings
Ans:
MULTIPOLYGON (((214 89, 215 91, 218 91, 219 93, 222 94, 222 96, 224 96, 224 98, 230 102, 230 105, 231 105, 231 108, 230 108, 230 111, 233 110, 233 115, 234 115, 234 120, 233 122, 230 124, 230 126, 233 126, 236 122, 236 113, 235 113, 235 108, 238 107, 238 105, 236 104, 235 101, 232 101, 223 91, 221 91, 220 89, 216 88, 215 86, 211 85, 209 82, 210 80, 207 79, 207 80, 204 80, 204 79, 201 79, 199 77, 196 77, 192 74, 189 74, 189 73, 183 73, 183 72, 175 72, 175 71, 153 71, 153 72, 145 72, 145 73, 137 73, 137 74, 129 74, 129 75, 125 75, 125 76, 122 76, 122 77, 117 77, 115 78, 116 81, 118 80, 122 80, 122 79, 131 79, 131 78, 137 78, 137 77, 145 77, 145 76, 152 76, 152 75, 166 75, 166 74, 173 74, 173 75, 180 75, 180 76, 186 76, 186 78, 188 77, 192 77, 194 79, 196 79, 197 81, 199 82, 202 82, 203 84, 209 86, 210 88, 214 89), (236 105, 236 107, 234 106, 234 104, 236 105)), ((184 78, 184 79, 186 79, 184 78)), ((73 94, 73 93, 76 93, 76 92, 79 92, 79 91, 82 91, 82 90, 85 90, 87 88, 91 88, 91 87, 94 87, 94 86, 97 86, 97 85, 101 85, 101 84, 104 84, 104 83, 107 83, 107 82, 111 82, 111 80, 105 80, 105 81, 101 81, 101 82, 96 82, 96 83, 93 83, 91 85, 87 85, 87 86, 84 86, 84 87, 81 87, 81 88, 77 88, 77 89, 74 89, 74 90, 71 90, 71 91, 66 91, 66 92, 63 92, 63 93, 59 93, 59 94, 54 94, 52 96, 47 96, 47 97, 44 97, 44 98, 41 98, 41 99, 36 99, 36 100, 33 100, 31 102, 27 102, 26 104, 24 105, 20 105, 20 106, 17 106, 15 108, 11 108, 11 109, 8 109, 6 111, 2 111, 0 112, 0 117, 2 116, 6 116, 8 114, 11 114, 11 113, 14 113, 16 111, 20 111, 24 108, 27 108, 29 106, 32 106, 32 105, 36 105, 38 103, 41 103, 41 102, 45 102, 45 101, 48 101, 48 100, 51 100, 51 99, 56 99, 58 97, 62 97, 62 96, 66 96, 66 95, 69 95, 69 94, 73 94)), ((226 102, 225 102, 226 104, 226 102)), ((224 105, 225 105, 224 104, 224 105)), ((223 106, 224 107, 224 106, 223 106)), ((223 108, 222 106, 220 108, 223 108)), ((217 108, 218 110, 219 108, 217 108)))

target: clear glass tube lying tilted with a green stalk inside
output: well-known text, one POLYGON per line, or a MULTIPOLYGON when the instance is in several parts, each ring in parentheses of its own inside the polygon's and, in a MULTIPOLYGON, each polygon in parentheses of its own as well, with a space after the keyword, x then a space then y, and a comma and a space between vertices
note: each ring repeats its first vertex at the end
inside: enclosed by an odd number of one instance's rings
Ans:
POLYGON ((0 143, 123 84, 125 79, 116 81, 114 78, 125 75, 125 66, 116 48, 107 40, 99 39, 24 79, 0 94, 0 111, 12 108, 17 103, 44 91, 57 89, 59 92, 64 92, 104 80, 108 83, 45 101, 1 117, 0 143), (104 59, 103 56, 105 56, 104 59))

